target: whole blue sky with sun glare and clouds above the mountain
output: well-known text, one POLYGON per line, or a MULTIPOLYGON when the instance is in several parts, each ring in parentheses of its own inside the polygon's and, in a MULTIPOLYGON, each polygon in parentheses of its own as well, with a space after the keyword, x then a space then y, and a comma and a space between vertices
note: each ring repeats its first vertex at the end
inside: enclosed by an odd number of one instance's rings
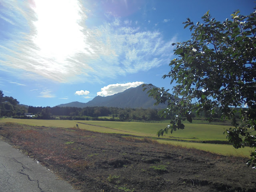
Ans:
POLYGON ((108 96, 162 79, 210 10, 224 21, 254 0, 0 0, 0 90, 31 106, 56 106, 108 96))

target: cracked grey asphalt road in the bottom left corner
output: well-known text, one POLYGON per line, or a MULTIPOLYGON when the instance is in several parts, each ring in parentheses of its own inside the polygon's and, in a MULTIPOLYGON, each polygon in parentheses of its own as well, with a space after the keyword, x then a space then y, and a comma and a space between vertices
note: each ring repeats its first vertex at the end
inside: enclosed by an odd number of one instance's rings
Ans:
POLYGON ((0 140, 0 192, 78 192, 36 161, 0 140))

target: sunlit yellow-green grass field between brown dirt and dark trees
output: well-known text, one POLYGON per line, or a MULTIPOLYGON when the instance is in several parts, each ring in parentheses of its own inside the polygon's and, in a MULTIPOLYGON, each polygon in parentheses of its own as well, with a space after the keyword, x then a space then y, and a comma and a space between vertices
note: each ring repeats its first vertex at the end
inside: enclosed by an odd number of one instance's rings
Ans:
POLYGON ((178 146, 192 147, 200 150, 206 150, 218 154, 249 156, 252 148, 234 149, 228 144, 208 144, 202 141, 226 141, 223 134, 225 129, 230 126, 212 125, 212 124, 194 124, 186 123, 184 130, 178 130, 172 134, 165 134, 158 138, 156 132, 165 128, 167 122, 148 123, 148 122, 111 122, 111 121, 80 121, 80 120, 28 120, 2 118, 0 122, 16 122, 33 126, 50 126, 70 128, 78 124, 79 128, 97 132, 129 134, 140 137, 151 137, 158 142, 174 144, 178 146), (90 124, 90 125, 88 125, 90 124), (167 139, 172 140, 167 140, 167 139), (176 141, 183 140, 183 141, 176 141), (188 141, 188 142, 185 142, 188 141), (190 142, 189 142, 190 141, 190 142))

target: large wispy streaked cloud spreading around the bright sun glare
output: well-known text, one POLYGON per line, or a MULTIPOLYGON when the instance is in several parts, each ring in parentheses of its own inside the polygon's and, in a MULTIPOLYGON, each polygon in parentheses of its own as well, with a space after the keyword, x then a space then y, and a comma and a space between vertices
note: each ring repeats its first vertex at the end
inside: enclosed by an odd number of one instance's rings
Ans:
POLYGON ((4 6, 6 19, 17 25, 16 17, 23 18, 23 31, 6 31, 11 38, 0 40, 0 70, 18 69, 16 76, 102 82, 158 67, 172 57, 175 39, 166 41, 158 31, 138 28, 137 21, 113 18, 88 28, 86 10, 78 0, 44 0, 22 6, 6 1, 4 6))

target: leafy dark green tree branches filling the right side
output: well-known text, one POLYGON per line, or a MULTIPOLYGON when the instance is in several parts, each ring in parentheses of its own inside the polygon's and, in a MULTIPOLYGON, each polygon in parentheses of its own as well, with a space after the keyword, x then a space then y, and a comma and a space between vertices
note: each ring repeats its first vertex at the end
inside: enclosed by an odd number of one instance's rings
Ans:
MULTIPOLYGON (((148 90, 156 105, 167 103, 162 110, 166 117, 174 114, 170 125, 158 132, 184 129, 184 120, 192 122, 192 112, 208 114, 211 121, 217 110, 222 118, 232 119, 233 126, 226 130, 228 141, 235 148, 256 147, 256 11, 243 16, 234 12, 232 19, 224 22, 211 18, 209 11, 196 25, 187 18, 184 22, 192 31, 190 40, 174 43, 170 77, 174 95, 164 88, 148 90), (235 114, 240 108, 241 122, 235 114), (245 109, 242 109, 245 108, 245 109)), ((144 88, 144 90, 147 87, 144 88)), ((256 166, 256 152, 252 152, 248 166, 256 166)))

